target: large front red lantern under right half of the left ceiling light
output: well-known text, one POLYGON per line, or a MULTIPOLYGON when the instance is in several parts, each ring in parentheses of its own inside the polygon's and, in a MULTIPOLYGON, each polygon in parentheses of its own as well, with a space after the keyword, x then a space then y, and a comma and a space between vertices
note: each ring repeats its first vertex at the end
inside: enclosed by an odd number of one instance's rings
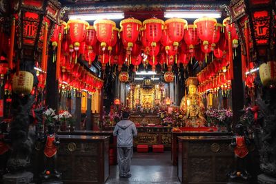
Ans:
POLYGON ((116 28, 116 23, 108 19, 96 20, 94 22, 96 28, 96 35, 99 42, 101 42, 101 49, 106 50, 107 43, 112 39, 113 28, 116 28))

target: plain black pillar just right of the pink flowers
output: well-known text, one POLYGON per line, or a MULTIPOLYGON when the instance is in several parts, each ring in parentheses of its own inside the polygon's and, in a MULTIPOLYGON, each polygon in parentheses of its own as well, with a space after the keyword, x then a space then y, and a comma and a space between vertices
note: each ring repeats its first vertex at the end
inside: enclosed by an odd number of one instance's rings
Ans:
POLYGON ((237 56, 233 59, 232 80, 232 107, 233 107, 233 123, 239 122, 242 116, 241 110, 244 108, 244 82, 242 81, 242 57, 241 49, 237 48, 237 56))

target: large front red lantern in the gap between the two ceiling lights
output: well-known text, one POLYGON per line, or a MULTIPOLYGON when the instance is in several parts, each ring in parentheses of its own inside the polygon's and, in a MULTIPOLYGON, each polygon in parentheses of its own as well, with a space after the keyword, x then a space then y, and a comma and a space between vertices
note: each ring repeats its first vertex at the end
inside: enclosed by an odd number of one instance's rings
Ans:
POLYGON ((162 28, 164 27, 164 21, 157 18, 150 18, 146 19, 143 22, 145 32, 144 36, 146 36, 146 39, 150 42, 150 45, 152 47, 157 46, 157 42, 160 41, 162 36, 162 28))

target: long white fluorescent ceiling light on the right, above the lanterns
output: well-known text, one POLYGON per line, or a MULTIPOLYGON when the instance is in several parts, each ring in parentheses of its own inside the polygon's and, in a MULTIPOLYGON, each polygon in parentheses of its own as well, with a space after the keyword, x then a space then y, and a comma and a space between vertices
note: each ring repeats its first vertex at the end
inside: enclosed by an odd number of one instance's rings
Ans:
POLYGON ((221 18, 221 12, 210 11, 166 11, 165 18, 192 18, 197 19, 201 17, 221 18))

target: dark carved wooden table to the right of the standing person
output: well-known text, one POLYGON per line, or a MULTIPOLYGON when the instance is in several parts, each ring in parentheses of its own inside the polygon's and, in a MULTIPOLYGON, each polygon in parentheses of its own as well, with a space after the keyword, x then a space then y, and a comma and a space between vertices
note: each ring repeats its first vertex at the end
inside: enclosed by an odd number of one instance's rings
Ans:
POLYGON ((232 136, 179 136, 177 175, 181 183, 226 183, 233 169, 232 136))

